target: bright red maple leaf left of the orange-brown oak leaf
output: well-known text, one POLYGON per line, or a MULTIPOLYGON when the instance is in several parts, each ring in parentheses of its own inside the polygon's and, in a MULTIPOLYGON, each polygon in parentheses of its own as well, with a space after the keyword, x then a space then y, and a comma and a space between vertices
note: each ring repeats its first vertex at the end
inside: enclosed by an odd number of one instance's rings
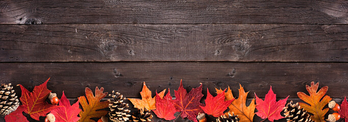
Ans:
POLYGON ((64 106, 51 111, 53 115, 56 117, 57 122, 76 122, 80 119, 78 114, 81 109, 79 108, 79 101, 70 105, 70 101, 66 99, 63 91, 62 98, 59 100, 59 105, 64 106))

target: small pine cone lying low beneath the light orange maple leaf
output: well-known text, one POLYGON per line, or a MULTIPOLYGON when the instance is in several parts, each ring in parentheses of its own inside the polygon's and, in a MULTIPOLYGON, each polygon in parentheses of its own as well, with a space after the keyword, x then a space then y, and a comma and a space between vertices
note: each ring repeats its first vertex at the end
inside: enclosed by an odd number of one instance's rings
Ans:
POLYGON ((152 121, 153 115, 151 114, 151 110, 147 110, 146 108, 144 110, 140 109, 138 112, 134 113, 132 115, 131 121, 142 121, 142 122, 150 122, 152 121))

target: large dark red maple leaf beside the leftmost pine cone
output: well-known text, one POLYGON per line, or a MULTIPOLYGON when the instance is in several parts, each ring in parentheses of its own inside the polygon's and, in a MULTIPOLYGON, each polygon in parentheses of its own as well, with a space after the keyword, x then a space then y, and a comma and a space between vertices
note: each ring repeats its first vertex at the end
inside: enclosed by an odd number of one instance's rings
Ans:
POLYGON ((24 112, 28 113, 30 117, 39 120, 40 116, 46 116, 46 113, 53 109, 62 107, 45 102, 51 90, 47 89, 47 82, 49 78, 39 86, 35 86, 33 92, 29 92, 26 88, 19 84, 22 90, 20 101, 23 104, 24 112))

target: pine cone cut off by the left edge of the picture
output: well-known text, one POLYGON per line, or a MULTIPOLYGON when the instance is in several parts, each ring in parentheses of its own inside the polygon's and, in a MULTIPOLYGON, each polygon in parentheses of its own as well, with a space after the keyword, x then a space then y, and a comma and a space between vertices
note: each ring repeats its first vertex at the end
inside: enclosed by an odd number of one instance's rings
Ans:
POLYGON ((11 83, 0 86, 0 114, 3 116, 15 111, 19 106, 19 100, 12 88, 11 83))

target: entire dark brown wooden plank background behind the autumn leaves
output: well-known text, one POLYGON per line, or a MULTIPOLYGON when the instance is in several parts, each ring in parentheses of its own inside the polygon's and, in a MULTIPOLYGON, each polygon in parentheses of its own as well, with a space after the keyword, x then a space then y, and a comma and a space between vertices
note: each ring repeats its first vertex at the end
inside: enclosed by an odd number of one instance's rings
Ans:
POLYGON ((183 79, 203 94, 238 96, 240 83, 248 100, 272 85, 288 102, 315 81, 340 103, 347 48, 348 1, 0 1, 0 82, 31 90, 51 77, 71 101, 85 87, 140 98, 143 81, 154 93, 183 79))

